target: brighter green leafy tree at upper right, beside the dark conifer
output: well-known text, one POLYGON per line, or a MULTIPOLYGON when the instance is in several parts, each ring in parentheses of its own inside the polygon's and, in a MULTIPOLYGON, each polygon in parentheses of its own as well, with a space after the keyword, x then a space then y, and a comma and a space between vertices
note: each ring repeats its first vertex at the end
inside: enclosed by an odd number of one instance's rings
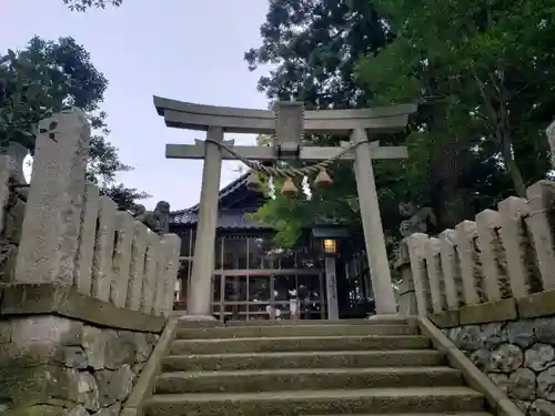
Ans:
POLYGON ((423 140, 456 138, 483 162, 502 161, 512 187, 525 196, 548 169, 543 131, 555 99, 548 23, 555 1, 373 3, 396 34, 359 69, 379 91, 375 102, 420 100, 434 108, 443 120, 420 125, 423 140))

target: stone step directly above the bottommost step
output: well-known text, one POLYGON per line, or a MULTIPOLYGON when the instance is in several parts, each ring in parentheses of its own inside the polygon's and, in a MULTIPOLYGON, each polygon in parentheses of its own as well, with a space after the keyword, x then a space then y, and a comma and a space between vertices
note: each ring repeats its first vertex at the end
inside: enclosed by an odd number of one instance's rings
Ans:
POLYGON ((254 393, 462 385, 461 372, 450 367, 297 368, 167 373, 157 378, 154 392, 254 393))

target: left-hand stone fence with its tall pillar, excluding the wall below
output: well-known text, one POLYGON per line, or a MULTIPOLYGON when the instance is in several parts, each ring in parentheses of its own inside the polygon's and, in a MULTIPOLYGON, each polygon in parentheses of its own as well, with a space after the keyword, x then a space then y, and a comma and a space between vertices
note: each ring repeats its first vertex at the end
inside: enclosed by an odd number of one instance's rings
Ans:
POLYGON ((58 132, 39 134, 20 224, 10 214, 11 163, 0 156, 0 234, 19 227, 14 284, 60 284, 117 307, 168 315, 180 239, 158 235, 84 180, 90 132, 80 111, 57 114, 58 132), (58 138, 51 139, 56 134, 58 138))

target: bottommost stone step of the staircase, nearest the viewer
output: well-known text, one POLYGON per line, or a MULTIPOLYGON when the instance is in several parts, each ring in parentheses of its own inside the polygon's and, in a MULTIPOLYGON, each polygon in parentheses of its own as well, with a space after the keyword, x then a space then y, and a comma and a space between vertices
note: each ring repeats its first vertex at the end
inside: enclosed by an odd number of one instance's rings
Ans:
POLYGON ((154 395, 147 416, 261 416, 478 412, 484 396, 467 387, 366 388, 251 394, 154 395))

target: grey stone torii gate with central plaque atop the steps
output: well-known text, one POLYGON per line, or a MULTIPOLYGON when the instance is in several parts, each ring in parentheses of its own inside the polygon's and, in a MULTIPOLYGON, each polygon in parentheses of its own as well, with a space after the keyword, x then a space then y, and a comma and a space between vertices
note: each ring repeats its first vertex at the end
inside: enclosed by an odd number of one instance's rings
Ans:
POLYGON ((206 140, 194 144, 167 144, 168 159, 203 159, 202 190, 194 246, 193 267, 188 294, 188 318, 212 318, 210 314, 211 278, 214 265, 214 242, 218 221, 222 160, 275 161, 300 159, 323 161, 336 158, 354 160, 364 240, 369 258, 377 314, 396 314, 391 271, 380 215, 372 159, 405 159, 404 146, 379 146, 371 143, 371 134, 403 130, 414 104, 362 110, 304 111, 297 102, 280 102, 276 111, 250 110, 188 103, 154 97, 158 114, 165 125, 178 129, 206 131, 206 140), (303 146, 302 134, 334 133, 350 135, 342 146, 303 146), (234 146, 224 141, 226 133, 275 134, 274 146, 234 146), (345 148, 349 146, 349 148, 345 148), (225 149, 230 149, 232 155, 225 149))

